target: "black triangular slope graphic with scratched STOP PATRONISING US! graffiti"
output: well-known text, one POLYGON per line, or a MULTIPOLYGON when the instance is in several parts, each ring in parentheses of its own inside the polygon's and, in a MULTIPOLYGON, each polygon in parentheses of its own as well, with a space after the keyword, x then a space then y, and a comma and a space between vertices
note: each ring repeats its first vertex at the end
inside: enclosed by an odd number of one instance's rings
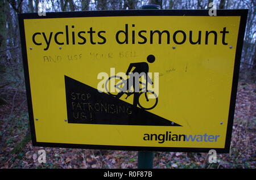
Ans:
POLYGON ((68 123, 180 126, 65 76, 68 123))

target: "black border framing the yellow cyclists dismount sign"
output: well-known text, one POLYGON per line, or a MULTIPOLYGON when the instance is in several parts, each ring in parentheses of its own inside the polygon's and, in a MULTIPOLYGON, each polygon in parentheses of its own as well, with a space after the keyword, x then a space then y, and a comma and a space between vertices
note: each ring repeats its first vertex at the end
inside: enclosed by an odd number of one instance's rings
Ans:
MULTIPOLYGON (((228 127, 226 130, 225 148, 179 148, 179 147, 136 147, 119 145, 91 145, 91 144, 65 144, 65 143, 44 143, 36 141, 34 115, 32 108, 32 98, 30 89, 30 76, 27 62, 27 46, 24 32, 24 19, 48 19, 48 18, 80 18, 80 17, 101 17, 101 16, 209 16, 209 10, 107 10, 107 11, 73 11, 73 12, 46 12, 46 16, 39 16, 38 13, 18 14, 20 41, 22 45, 22 58, 24 68, 24 78, 26 83, 28 115, 30 119, 30 129, 32 145, 38 147, 60 147, 60 148, 82 148, 82 149, 109 149, 125 151, 169 151, 169 152, 209 152, 215 149, 218 153, 229 153, 232 138, 232 128, 234 111, 236 106, 236 95, 240 61, 245 34, 247 9, 241 10, 217 10, 217 16, 240 16, 240 27, 237 39, 236 58, 233 71, 232 92, 229 105, 228 127)), ((209 16, 210 17, 210 16, 209 16)), ((151 22, 148 22, 151 23, 151 22)))

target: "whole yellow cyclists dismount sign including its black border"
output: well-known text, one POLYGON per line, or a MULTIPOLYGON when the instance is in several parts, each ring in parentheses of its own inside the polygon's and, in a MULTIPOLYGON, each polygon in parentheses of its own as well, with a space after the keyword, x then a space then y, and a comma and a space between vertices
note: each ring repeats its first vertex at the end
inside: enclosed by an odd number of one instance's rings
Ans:
POLYGON ((33 145, 229 152, 246 16, 19 14, 33 145))

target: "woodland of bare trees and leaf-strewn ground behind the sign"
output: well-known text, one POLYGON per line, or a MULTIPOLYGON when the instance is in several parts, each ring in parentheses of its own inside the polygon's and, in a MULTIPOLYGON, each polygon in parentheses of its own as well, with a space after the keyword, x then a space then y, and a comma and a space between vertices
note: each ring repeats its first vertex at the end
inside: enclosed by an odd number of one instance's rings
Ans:
POLYGON ((0 168, 137 168, 137 152, 32 147, 17 13, 161 9, 249 9, 243 43, 232 146, 208 163, 207 153, 155 152, 154 168, 255 168, 256 1, 255 0, 0 0, 0 168), (45 149, 47 163, 37 152, 45 149))

